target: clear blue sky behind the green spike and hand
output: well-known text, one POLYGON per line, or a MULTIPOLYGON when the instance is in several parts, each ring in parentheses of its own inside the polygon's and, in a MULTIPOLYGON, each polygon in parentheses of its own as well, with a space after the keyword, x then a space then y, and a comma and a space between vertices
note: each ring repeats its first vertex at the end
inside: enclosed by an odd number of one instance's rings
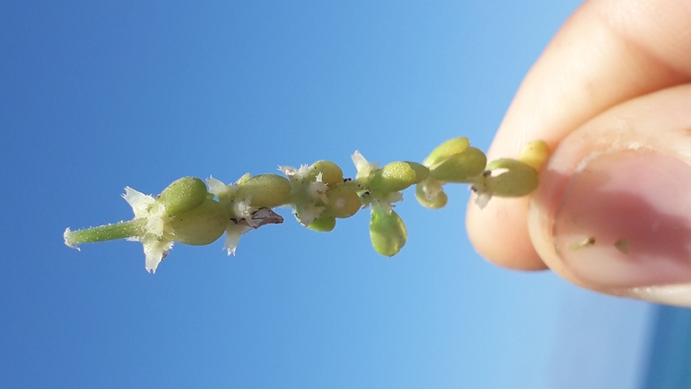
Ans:
POLYGON ((125 186, 486 149, 578 4, 0 4, 0 386, 637 387, 653 305, 485 262, 463 187, 407 192, 391 259, 366 212, 329 234, 284 212, 155 275, 138 243, 62 242, 130 218, 125 186))

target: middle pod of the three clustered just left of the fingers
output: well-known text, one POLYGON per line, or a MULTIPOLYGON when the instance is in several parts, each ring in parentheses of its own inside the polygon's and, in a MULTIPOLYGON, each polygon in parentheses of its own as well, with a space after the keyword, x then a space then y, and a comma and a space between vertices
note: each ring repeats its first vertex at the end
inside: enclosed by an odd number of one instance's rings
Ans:
POLYGON ((485 153, 476 147, 468 147, 463 153, 451 155, 430 167, 430 175, 439 181, 468 182, 485 171, 485 164, 485 153))

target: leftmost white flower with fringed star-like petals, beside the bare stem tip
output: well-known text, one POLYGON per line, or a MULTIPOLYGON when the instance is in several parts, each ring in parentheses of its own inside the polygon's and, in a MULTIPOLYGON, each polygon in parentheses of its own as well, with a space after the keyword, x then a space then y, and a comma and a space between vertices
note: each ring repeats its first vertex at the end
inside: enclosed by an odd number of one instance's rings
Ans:
POLYGON ((128 238, 130 241, 138 241, 144 245, 145 267, 147 271, 156 272, 158 264, 172 248, 172 241, 164 237, 165 232, 165 207, 156 202, 153 196, 125 188, 122 197, 127 201, 136 219, 144 219, 144 234, 128 238))

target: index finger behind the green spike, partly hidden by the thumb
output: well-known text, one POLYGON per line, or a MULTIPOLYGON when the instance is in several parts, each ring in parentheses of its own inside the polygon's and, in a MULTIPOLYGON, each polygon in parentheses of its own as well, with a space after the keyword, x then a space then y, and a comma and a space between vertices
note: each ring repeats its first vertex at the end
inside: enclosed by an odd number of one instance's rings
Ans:
MULTIPOLYGON (((690 82, 689 20, 687 1, 582 4, 520 85, 490 147, 490 160, 518 155, 521 146, 535 139, 554 150, 575 128, 608 108, 690 82)), ((512 269, 544 269, 527 217, 528 199, 492 199, 484 209, 471 200, 468 235, 489 261, 512 269)))

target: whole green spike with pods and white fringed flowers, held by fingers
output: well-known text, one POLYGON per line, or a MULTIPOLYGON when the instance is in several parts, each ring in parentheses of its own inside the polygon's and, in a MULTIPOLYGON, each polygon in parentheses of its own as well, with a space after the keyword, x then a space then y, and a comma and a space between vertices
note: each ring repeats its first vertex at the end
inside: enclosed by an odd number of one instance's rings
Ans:
POLYGON ((206 183, 183 177, 158 197, 125 188, 123 198, 132 208, 132 220, 76 231, 67 228, 64 239, 77 250, 82 243, 113 239, 142 243, 144 267, 153 273, 174 243, 204 245, 224 233, 223 250, 234 255, 241 235, 283 223, 273 208, 292 208, 298 222, 319 232, 333 230, 337 218, 371 208, 372 247, 393 256, 407 243, 406 225, 394 210, 394 203, 403 200, 403 190, 415 186, 420 204, 437 209, 448 201, 444 185, 464 182, 477 193, 476 203, 483 208, 493 196, 520 197, 535 190, 547 157, 547 145, 535 141, 523 148, 518 159, 487 164, 485 154, 470 146, 468 138, 456 137, 436 147, 422 164, 398 161, 380 168, 355 151, 354 179, 344 178, 341 168, 327 160, 299 168, 279 166, 285 177, 247 173, 228 185, 214 177, 206 183))

